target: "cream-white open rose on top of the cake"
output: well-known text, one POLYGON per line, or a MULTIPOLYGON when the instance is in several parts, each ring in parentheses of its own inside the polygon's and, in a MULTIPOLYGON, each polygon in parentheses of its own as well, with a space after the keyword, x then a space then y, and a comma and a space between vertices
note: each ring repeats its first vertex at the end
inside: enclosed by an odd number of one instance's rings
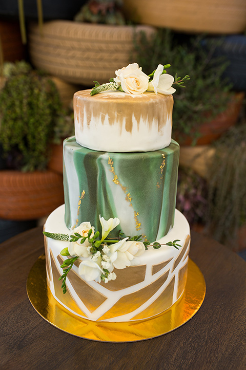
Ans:
POLYGON ((148 89, 149 76, 147 76, 137 63, 129 64, 115 71, 114 82, 128 94, 143 94, 148 89))

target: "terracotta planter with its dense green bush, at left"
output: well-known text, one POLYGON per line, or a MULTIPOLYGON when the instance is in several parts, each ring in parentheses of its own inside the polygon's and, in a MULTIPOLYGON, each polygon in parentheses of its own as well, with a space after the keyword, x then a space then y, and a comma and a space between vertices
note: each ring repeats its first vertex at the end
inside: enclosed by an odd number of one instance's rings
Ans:
POLYGON ((63 203, 63 177, 46 170, 61 109, 58 91, 25 62, 6 63, 0 91, 0 217, 37 219, 63 203))

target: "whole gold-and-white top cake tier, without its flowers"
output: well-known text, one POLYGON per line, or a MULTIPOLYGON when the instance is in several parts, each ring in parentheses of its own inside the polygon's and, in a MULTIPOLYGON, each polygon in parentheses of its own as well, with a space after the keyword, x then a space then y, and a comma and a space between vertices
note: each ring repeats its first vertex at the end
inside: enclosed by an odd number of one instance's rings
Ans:
POLYGON ((171 142, 172 95, 108 91, 74 94, 78 144, 103 152, 150 152, 171 142))

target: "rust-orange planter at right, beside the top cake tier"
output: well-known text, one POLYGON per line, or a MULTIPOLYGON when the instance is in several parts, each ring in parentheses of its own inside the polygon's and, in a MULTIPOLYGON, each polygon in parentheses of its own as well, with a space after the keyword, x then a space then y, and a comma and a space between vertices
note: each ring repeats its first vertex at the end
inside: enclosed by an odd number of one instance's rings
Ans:
MULTIPOLYGON (((232 100, 228 104, 228 108, 224 112, 220 113, 213 120, 203 122, 199 127, 194 130, 200 134, 196 140, 196 145, 209 145, 213 141, 217 140, 224 132, 230 127, 234 126, 237 122, 238 115, 242 106, 244 93, 237 93, 232 97, 232 100)), ((174 133, 173 138, 177 140, 180 145, 192 145, 194 141, 194 135, 190 136, 182 133, 174 133)))

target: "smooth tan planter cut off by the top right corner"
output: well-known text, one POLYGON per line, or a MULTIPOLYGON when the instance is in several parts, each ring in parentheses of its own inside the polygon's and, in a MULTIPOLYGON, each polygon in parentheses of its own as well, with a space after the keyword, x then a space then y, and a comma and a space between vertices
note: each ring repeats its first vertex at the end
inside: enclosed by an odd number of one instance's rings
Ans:
POLYGON ((246 27, 245 0, 124 0, 141 24, 179 31, 240 33, 246 27))

